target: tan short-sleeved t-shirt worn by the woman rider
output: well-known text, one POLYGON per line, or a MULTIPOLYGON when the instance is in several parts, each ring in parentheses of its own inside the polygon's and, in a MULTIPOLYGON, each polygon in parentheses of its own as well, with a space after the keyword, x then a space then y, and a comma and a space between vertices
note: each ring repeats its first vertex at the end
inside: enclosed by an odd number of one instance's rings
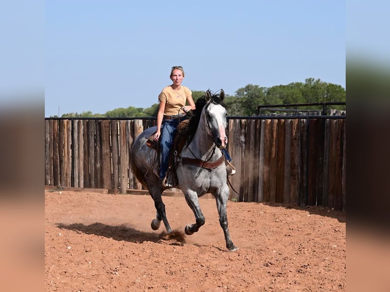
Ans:
POLYGON ((165 102, 165 115, 175 115, 179 113, 179 109, 185 106, 187 97, 192 92, 188 87, 181 85, 179 91, 174 91, 171 86, 166 86, 158 95, 158 100, 165 102))

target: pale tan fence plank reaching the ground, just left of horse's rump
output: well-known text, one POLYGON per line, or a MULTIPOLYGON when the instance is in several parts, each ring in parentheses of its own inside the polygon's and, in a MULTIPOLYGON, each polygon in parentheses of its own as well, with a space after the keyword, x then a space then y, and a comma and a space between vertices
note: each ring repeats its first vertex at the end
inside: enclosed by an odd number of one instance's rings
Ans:
POLYGON ((126 193, 129 185, 128 170, 129 158, 127 156, 126 121, 119 121, 119 170, 121 193, 126 193))

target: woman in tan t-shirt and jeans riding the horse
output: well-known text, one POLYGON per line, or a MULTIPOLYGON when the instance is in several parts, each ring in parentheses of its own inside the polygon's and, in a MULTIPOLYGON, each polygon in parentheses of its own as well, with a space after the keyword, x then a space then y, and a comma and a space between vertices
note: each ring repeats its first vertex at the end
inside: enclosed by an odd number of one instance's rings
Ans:
MULTIPOLYGON (((164 182, 166 171, 168 170, 169 155, 173 143, 173 138, 177 132, 179 122, 186 120, 185 112, 196 109, 192 99, 192 93, 188 87, 181 85, 184 79, 184 70, 181 66, 174 66, 171 69, 172 84, 164 87, 158 95, 159 108, 157 113, 157 132, 154 139, 159 141, 161 151, 160 184, 164 182), (186 102, 189 105, 186 105, 186 102), (183 112, 184 111, 184 112, 183 112), (161 129, 162 125, 162 129, 161 129)), ((230 163, 232 159, 225 151, 228 164, 228 174, 233 175, 236 170, 230 163)), ((170 180, 165 180, 163 187, 173 187, 170 180)))

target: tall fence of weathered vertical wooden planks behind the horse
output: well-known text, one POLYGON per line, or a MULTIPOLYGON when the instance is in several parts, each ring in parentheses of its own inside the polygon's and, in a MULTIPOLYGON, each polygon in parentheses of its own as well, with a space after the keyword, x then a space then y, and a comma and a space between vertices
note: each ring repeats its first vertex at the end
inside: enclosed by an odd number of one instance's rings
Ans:
MULTIPOLYGON (((230 198, 345 211, 345 117, 230 117, 237 173, 230 198), (237 191, 239 194, 234 192, 237 191)), ((45 119, 45 185, 143 189, 129 169, 134 138, 155 119, 45 119)))

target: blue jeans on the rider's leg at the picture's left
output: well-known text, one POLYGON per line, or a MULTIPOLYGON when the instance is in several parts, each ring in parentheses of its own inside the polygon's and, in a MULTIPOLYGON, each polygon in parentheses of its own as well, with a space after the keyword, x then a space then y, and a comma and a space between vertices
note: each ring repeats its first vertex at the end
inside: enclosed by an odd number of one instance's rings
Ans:
MULTIPOLYGON (((183 119, 180 121, 183 121, 183 119)), ((169 155, 173 138, 177 132, 177 125, 179 125, 179 120, 162 120, 161 135, 158 139, 160 141, 161 152, 160 179, 165 177, 165 172, 168 170, 169 155)))

